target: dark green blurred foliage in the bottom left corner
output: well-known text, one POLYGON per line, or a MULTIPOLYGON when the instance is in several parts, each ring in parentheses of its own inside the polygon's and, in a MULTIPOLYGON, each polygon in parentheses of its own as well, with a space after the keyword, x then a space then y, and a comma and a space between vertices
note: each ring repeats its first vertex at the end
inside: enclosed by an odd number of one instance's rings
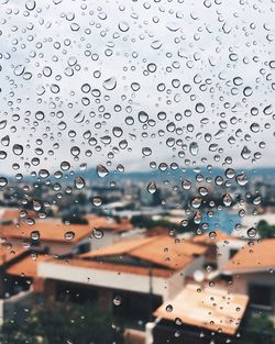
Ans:
POLYGON ((108 312, 86 303, 36 307, 24 320, 4 323, 1 343, 7 344, 109 344, 121 343, 108 312))

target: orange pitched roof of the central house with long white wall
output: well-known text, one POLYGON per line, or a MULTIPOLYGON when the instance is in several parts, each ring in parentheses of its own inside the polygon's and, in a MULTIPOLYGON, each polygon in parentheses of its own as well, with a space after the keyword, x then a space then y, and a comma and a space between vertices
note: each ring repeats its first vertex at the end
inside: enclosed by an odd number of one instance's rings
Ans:
POLYGON ((166 268, 180 269, 193 262, 194 255, 201 255, 206 251, 206 247, 189 241, 176 242, 175 238, 163 235, 124 240, 112 246, 85 253, 80 257, 96 258, 130 255, 166 268))

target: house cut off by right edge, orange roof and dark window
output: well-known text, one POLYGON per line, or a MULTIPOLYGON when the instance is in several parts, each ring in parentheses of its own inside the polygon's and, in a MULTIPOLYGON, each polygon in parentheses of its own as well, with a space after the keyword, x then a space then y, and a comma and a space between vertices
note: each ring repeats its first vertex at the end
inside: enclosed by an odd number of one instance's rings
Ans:
POLYGON ((246 244, 221 269, 232 290, 250 296, 252 309, 266 312, 275 323, 275 238, 246 244))

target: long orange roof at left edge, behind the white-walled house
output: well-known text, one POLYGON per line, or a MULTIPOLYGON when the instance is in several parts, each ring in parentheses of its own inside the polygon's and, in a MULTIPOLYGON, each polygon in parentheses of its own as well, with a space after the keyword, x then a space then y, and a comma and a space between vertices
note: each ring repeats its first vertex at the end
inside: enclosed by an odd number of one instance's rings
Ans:
POLYGON ((9 238, 31 238, 32 232, 40 233, 40 241, 77 243, 81 238, 90 235, 90 226, 87 224, 66 225, 62 222, 50 220, 37 220, 34 225, 21 223, 19 225, 0 225, 0 235, 9 238), (70 240, 66 240, 65 234, 73 232, 70 240))

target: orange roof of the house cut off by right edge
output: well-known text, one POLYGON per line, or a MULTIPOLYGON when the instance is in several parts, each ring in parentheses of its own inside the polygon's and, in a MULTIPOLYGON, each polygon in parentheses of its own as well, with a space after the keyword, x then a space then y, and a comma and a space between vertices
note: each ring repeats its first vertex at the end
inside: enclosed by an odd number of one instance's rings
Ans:
POLYGON ((275 238, 254 242, 241 248, 223 267, 224 273, 250 273, 275 268, 275 238))

